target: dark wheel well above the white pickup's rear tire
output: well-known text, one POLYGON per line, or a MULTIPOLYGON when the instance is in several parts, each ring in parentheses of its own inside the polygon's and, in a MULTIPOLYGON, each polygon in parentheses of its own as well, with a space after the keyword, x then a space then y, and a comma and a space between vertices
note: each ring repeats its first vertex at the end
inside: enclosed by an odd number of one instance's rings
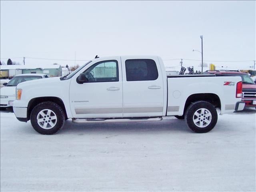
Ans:
POLYGON ((185 103, 185 107, 184 107, 184 112, 183 114, 185 114, 188 106, 192 103, 192 102, 196 102, 196 101, 206 101, 209 102, 210 104, 212 104, 215 108, 220 108, 221 104, 220 104, 220 98, 218 97, 218 95, 213 94, 213 93, 198 93, 198 94, 192 94, 190 95, 185 103))

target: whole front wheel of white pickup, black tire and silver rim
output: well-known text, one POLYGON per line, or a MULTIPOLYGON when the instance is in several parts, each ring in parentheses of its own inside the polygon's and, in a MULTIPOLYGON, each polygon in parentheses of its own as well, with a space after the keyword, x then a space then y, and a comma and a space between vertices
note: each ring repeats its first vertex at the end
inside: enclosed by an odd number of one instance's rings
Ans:
POLYGON ((52 135, 64 126, 65 114, 58 104, 42 102, 33 108, 30 121, 38 133, 52 135))

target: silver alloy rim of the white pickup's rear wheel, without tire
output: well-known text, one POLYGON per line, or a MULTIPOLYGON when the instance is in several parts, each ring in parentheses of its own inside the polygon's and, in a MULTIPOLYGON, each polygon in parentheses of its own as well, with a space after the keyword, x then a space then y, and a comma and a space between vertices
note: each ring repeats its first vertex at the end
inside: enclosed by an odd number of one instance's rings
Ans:
POLYGON ((194 124, 200 128, 204 128, 212 121, 212 114, 205 108, 198 109, 193 116, 194 124))

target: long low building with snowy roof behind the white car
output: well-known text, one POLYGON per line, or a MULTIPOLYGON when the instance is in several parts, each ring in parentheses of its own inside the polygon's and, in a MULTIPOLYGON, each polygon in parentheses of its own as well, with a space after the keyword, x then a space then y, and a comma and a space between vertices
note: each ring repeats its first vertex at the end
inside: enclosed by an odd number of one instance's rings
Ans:
POLYGON ((62 68, 60 65, 1 65, 1 78, 14 77, 19 74, 28 74, 28 73, 40 73, 46 74, 49 77, 58 77, 62 76, 62 68))

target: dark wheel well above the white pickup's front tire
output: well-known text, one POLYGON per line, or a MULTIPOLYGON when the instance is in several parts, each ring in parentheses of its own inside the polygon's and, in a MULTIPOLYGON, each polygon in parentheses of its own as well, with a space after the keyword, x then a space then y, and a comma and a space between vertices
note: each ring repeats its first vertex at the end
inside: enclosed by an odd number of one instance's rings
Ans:
POLYGON ((65 105, 64 105, 63 101, 60 98, 58 98, 58 97, 37 97, 37 98, 33 98, 32 100, 30 100, 28 102, 27 120, 30 120, 30 114, 31 114, 33 108, 37 104, 45 102, 45 101, 51 101, 51 102, 54 102, 54 103, 58 104, 65 113, 65 119, 68 118, 65 105))

